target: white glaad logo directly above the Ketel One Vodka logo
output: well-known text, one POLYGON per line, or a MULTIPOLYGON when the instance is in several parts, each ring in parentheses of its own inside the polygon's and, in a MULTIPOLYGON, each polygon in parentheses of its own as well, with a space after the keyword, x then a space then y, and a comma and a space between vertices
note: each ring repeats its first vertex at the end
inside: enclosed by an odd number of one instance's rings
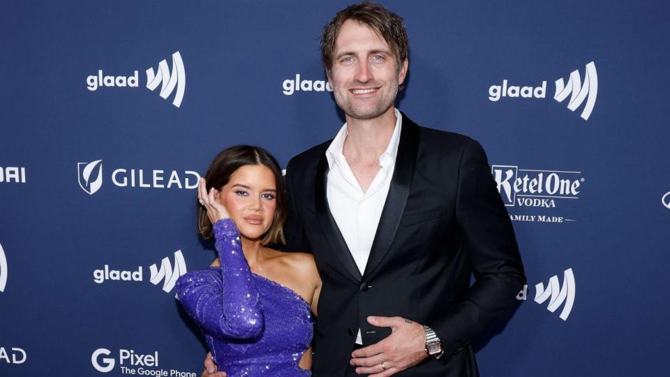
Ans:
MULTIPOLYGON (((581 117, 588 120, 595 107, 595 100, 598 95, 598 73, 595 69, 595 62, 591 61, 586 64, 586 73, 584 75, 584 82, 581 82, 581 76, 578 70, 572 71, 567 80, 567 84, 563 82, 563 78, 555 81, 556 92, 553 96, 558 102, 565 101, 567 96, 570 100, 567 103, 567 108, 575 111, 581 106, 586 99, 586 105, 581 112, 581 117)), ((493 102, 500 101, 500 98, 546 98, 546 81, 542 81, 539 87, 518 85, 510 85, 507 80, 502 80, 502 85, 491 85, 489 87, 489 100, 493 102)))

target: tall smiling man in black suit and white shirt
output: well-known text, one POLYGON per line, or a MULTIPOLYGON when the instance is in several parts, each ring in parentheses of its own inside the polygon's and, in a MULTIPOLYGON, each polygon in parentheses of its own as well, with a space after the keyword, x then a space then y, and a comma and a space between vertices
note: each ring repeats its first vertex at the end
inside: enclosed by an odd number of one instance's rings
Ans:
POLYGON ((472 337, 525 281, 486 155, 394 108, 408 71, 394 13, 349 6, 321 47, 346 124, 286 177, 286 249, 311 251, 323 281, 313 374, 477 376, 472 337))

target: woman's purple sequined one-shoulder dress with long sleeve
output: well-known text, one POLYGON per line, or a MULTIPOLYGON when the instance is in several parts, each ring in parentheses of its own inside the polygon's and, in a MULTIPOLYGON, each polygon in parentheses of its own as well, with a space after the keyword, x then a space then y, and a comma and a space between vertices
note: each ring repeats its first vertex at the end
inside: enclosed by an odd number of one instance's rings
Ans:
POLYGON ((311 376, 298 363, 312 341, 309 304, 279 283, 251 273, 231 219, 214 224, 221 267, 191 271, 177 297, 198 322, 218 369, 237 376, 311 376))

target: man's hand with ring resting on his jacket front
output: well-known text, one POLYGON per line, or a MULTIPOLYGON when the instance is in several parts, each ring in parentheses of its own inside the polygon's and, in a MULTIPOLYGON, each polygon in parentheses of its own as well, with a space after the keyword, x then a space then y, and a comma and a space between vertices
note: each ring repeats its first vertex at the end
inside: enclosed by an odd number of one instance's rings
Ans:
POLYGON ((422 325, 401 317, 370 316, 368 323, 376 327, 391 327, 391 335, 351 354, 349 363, 359 367, 356 368, 357 374, 392 376, 414 367, 427 357, 426 332, 422 325))

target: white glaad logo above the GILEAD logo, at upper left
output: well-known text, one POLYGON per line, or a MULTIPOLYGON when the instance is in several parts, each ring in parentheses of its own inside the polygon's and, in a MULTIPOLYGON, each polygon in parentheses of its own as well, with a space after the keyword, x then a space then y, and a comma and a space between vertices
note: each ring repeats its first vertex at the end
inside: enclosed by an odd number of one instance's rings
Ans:
MULTIPOLYGON (((105 75, 102 69, 98 70, 97 75, 89 75, 86 78, 87 88, 90 91, 96 91, 99 87, 139 87, 140 75, 138 71, 134 71, 133 75, 105 75)), ((177 87, 177 92, 174 94, 172 105, 181 106, 181 101, 184 100, 184 91, 186 91, 186 70, 184 69, 184 61, 181 60, 179 51, 172 54, 172 72, 168 68, 168 61, 163 59, 158 63, 158 70, 154 73, 154 68, 147 69, 147 89, 154 91, 158 85, 161 85, 159 95, 168 99, 174 88, 177 87)))

